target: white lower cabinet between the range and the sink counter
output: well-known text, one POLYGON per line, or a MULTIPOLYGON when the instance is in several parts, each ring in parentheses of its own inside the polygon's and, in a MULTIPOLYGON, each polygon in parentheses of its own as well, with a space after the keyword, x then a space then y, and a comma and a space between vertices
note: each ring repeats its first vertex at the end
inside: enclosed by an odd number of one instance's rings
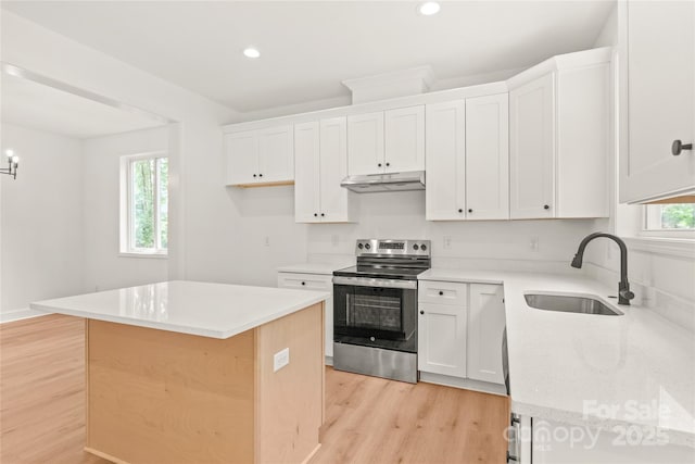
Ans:
POLYGON ((501 285, 422 280, 418 300, 420 373, 504 384, 501 285))

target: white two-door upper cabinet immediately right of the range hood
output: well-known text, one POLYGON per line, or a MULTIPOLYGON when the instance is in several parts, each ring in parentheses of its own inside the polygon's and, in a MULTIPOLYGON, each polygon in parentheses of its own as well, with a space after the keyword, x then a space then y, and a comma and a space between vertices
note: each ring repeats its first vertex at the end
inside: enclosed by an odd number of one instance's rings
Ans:
POLYGON ((427 105, 428 221, 509 218, 507 93, 427 105))

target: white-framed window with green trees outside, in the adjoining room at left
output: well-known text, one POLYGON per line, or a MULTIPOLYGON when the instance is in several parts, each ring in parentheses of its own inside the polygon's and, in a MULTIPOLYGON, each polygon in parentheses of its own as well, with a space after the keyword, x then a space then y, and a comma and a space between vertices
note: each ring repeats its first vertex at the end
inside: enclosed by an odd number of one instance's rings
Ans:
POLYGON ((148 153, 121 159, 121 252, 166 255, 168 159, 148 153))

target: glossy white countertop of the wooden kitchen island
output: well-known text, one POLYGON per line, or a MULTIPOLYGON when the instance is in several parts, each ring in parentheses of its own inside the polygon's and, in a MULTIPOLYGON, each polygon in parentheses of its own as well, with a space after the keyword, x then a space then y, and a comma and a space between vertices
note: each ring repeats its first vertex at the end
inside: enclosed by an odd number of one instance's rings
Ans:
POLYGON ((164 281, 31 303, 33 310, 229 338, 329 298, 321 291, 164 281))

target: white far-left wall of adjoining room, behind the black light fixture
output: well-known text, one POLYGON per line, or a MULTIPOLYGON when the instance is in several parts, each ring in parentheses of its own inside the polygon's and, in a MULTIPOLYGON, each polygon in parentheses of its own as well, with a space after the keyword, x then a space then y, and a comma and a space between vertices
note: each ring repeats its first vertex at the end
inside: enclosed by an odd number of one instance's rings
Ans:
POLYGON ((31 301, 81 291, 83 170, 77 139, 11 124, 1 133, 3 152, 21 156, 16 180, 0 178, 4 319, 30 314, 31 301))

